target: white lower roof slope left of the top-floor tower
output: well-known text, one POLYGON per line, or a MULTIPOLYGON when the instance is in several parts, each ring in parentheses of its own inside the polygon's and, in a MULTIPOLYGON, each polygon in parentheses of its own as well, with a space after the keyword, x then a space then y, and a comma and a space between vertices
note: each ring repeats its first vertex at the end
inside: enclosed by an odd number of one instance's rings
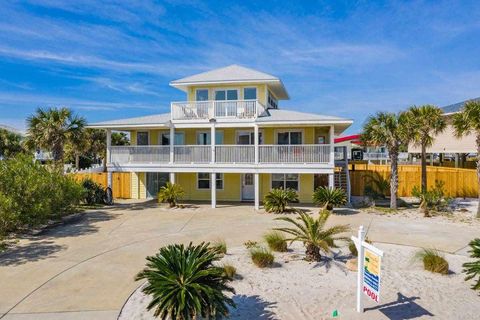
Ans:
POLYGON ((126 118, 111 121, 91 123, 88 128, 139 128, 139 127, 162 127, 170 123, 170 113, 153 114, 150 116, 126 118))

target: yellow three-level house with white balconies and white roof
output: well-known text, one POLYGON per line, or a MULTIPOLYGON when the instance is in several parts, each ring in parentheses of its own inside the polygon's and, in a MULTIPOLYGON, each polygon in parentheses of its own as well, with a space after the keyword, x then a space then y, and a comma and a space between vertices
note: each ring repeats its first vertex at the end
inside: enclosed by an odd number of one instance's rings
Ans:
POLYGON ((312 202, 316 187, 334 185, 333 139, 351 120, 282 110, 279 101, 289 99, 282 81, 237 65, 170 85, 187 100, 172 102, 170 113, 89 125, 107 129, 109 181, 111 172, 132 172, 132 198, 155 197, 169 180, 185 200, 258 208, 272 188, 312 202), (112 130, 129 131, 132 145, 111 146, 112 130))

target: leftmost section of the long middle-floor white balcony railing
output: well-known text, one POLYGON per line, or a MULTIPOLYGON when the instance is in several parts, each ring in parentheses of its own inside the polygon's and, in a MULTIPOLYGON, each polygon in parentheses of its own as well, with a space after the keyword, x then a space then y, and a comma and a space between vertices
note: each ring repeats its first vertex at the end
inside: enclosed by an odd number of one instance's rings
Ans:
POLYGON ((169 146, 110 147, 111 163, 156 163, 170 161, 169 146))

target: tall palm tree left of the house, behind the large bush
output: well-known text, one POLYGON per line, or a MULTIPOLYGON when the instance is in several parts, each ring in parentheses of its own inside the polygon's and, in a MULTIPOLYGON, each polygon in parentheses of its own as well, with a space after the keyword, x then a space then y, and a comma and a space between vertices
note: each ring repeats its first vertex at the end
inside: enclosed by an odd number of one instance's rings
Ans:
POLYGON ((68 108, 38 108, 27 118, 28 144, 50 150, 55 161, 63 162, 65 144, 78 139, 85 124, 84 118, 72 115, 68 108))

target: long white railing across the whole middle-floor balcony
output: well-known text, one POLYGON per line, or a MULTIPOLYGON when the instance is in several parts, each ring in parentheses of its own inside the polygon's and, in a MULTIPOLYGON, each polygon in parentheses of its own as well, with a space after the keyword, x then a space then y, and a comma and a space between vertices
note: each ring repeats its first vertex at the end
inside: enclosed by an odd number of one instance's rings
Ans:
MULTIPOLYGON (((255 164, 253 145, 216 145, 215 163, 255 164)), ((170 146, 115 146, 110 148, 114 164, 169 163, 170 146)), ((181 145, 173 148, 173 162, 178 164, 211 163, 210 145, 181 145)), ((259 164, 329 163, 329 145, 259 145, 259 164)))

